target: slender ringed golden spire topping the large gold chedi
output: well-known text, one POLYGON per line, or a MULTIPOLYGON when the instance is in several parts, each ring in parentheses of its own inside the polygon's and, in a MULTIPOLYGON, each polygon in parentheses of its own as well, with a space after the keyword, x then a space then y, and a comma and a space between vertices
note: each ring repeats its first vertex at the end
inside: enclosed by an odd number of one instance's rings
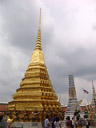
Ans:
POLYGON ((37 35, 35 50, 36 49, 42 50, 41 48, 41 9, 40 9, 39 28, 38 28, 38 35, 37 35))

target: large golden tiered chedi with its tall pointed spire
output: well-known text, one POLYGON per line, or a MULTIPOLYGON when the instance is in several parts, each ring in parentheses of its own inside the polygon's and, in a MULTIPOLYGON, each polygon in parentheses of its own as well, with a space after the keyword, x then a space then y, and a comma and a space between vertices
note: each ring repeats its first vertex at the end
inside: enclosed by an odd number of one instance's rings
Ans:
POLYGON ((8 103, 7 114, 19 122, 42 122, 46 113, 51 118, 61 111, 60 103, 53 90, 41 48, 41 13, 36 47, 20 88, 8 103))

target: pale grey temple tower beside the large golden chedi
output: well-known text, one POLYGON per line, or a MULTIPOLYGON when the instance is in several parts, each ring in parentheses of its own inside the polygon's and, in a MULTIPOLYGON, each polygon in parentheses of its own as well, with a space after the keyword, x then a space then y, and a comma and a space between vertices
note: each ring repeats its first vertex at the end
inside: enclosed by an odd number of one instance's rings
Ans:
POLYGON ((67 116, 70 116, 72 118, 76 110, 81 110, 81 108, 78 104, 77 97, 76 97, 74 78, 72 73, 70 73, 69 74, 69 102, 67 106, 67 111, 65 113, 65 119, 67 116))

